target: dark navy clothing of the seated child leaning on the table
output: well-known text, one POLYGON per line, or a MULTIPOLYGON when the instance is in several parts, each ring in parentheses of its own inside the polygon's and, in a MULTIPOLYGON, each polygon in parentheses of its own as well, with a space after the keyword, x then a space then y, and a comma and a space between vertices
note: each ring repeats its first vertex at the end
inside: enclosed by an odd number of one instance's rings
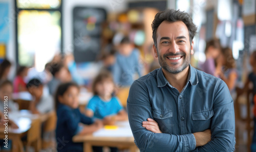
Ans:
POLYGON ((80 113, 79 109, 72 109, 59 104, 57 109, 56 142, 58 152, 82 151, 82 143, 74 143, 72 137, 81 131, 78 123, 92 124, 92 118, 80 113))

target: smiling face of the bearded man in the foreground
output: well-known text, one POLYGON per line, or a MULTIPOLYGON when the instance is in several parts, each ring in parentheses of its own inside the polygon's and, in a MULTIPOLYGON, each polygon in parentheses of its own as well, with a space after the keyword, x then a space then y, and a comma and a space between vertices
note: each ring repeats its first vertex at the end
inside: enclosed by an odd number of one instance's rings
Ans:
POLYGON ((155 57, 161 67, 169 73, 179 73, 188 67, 194 54, 188 29, 184 22, 163 21, 156 32, 157 46, 153 45, 155 57))

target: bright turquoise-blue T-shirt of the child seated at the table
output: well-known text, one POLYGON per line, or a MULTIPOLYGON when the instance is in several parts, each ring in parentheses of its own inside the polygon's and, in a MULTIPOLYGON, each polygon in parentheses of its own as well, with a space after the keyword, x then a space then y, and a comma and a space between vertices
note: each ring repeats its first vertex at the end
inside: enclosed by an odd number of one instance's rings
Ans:
POLYGON ((94 112, 94 117, 103 119, 105 116, 116 115, 123 109, 117 97, 112 97, 110 101, 103 101, 98 95, 94 95, 88 105, 87 109, 94 112))

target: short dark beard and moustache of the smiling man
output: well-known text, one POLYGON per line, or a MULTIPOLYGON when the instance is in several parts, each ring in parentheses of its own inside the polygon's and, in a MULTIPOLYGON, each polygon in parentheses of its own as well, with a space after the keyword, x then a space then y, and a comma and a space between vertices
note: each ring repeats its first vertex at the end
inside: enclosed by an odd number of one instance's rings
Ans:
MULTIPOLYGON (((164 54, 163 57, 159 55, 159 52, 158 52, 158 49, 157 49, 157 55, 158 55, 158 61, 159 61, 159 64, 161 65, 161 67, 163 69, 165 69, 167 72, 169 73, 172 73, 172 74, 177 74, 177 73, 180 73, 181 71, 183 71, 190 63, 190 58, 191 58, 191 46, 190 46, 190 52, 189 52, 189 55, 187 56, 184 52, 178 52, 176 54, 174 53, 168 53, 168 54, 164 54), (182 56, 183 59, 183 62, 181 64, 180 67, 172 67, 172 66, 169 66, 167 64, 167 59, 166 57, 168 56, 182 56)), ((175 63, 171 63, 172 65, 177 65, 179 63, 175 62, 175 63)))

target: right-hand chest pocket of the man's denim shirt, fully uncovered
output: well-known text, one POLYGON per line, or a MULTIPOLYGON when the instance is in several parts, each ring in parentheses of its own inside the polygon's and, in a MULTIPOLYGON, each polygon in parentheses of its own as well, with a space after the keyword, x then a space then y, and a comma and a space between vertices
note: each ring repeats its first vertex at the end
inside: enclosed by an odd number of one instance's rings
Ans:
POLYGON ((211 117, 214 116, 214 110, 194 112, 191 115, 193 119, 193 133, 210 129, 211 117))

